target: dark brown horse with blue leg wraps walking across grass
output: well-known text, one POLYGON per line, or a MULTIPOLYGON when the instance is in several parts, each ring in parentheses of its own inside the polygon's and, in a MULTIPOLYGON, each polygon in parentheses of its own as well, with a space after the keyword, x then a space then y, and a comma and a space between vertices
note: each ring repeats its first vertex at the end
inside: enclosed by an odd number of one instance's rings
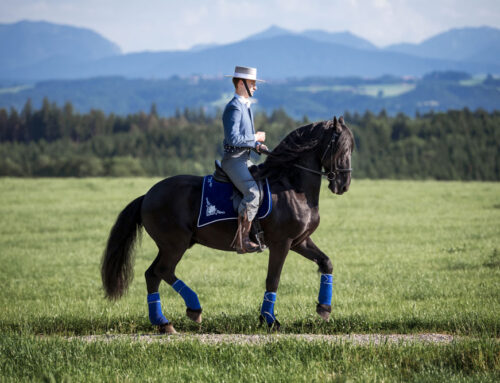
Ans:
MULTIPOLYGON (((258 180, 266 179, 272 197, 271 213, 260 221, 269 249, 266 291, 259 319, 276 331, 274 315, 281 270, 289 250, 318 265, 321 273, 316 312, 328 321, 331 313, 333 265, 311 239, 319 225, 319 193, 322 176, 329 190, 341 195, 351 183, 354 136, 343 117, 311 123, 289 133, 259 166, 251 168, 258 180)), ((201 323, 202 307, 197 294, 175 275, 183 254, 194 244, 235 251, 231 242, 235 220, 197 227, 203 177, 177 175, 155 184, 145 195, 130 202, 111 229, 101 261, 105 295, 120 298, 132 279, 133 248, 144 227, 158 247, 158 255, 145 272, 149 319, 160 333, 175 333, 163 315, 158 288, 165 281, 185 301, 186 315, 201 323)))

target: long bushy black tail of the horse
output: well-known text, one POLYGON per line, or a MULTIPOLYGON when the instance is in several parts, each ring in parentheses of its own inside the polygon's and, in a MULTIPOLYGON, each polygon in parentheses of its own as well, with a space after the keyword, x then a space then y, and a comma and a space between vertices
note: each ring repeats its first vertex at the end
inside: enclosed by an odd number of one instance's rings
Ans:
POLYGON ((109 234, 101 261, 102 284, 109 299, 119 299, 134 277, 132 254, 142 227, 143 199, 136 198, 122 210, 109 234))

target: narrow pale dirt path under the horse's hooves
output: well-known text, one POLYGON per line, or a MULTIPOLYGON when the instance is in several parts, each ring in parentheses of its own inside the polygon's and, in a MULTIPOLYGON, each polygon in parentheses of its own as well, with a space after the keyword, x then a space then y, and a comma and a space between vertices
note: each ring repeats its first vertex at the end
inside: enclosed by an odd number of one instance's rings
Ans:
POLYGON ((85 335, 68 337, 68 340, 83 340, 86 342, 113 340, 130 340, 134 342, 179 342, 200 341, 208 344, 234 343, 234 344, 264 344, 282 340, 304 340, 308 342, 327 341, 332 343, 348 342, 356 345, 386 344, 386 343, 438 343, 447 344, 454 340, 464 339, 457 335, 423 333, 423 334, 349 334, 349 335, 322 335, 322 334, 270 334, 270 335, 245 335, 245 334, 120 334, 120 335, 85 335))

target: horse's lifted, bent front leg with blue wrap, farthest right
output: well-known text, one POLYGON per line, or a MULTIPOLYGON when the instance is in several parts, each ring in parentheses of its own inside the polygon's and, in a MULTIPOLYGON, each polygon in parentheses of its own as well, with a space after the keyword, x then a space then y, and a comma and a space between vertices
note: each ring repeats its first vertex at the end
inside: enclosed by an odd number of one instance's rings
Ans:
POLYGON ((301 243, 292 247, 292 250, 318 264, 321 273, 321 281, 316 312, 321 318, 328 321, 330 313, 332 312, 333 292, 333 266, 330 258, 314 244, 310 237, 307 237, 301 243))

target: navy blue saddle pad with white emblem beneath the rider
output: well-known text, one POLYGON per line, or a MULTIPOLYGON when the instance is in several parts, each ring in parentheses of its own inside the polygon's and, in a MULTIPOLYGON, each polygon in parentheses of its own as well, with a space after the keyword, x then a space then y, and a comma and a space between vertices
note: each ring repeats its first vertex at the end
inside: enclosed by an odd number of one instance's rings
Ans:
MULTIPOLYGON (((263 183, 263 189, 264 199, 257 212, 258 218, 267 217, 273 208, 271 189, 267 179, 263 183)), ((217 182, 211 175, 203 178, 198 227, 227 219, 238 219, 238 213, 233 207, 233 190, 234 186, 231 183, 217 182)))

